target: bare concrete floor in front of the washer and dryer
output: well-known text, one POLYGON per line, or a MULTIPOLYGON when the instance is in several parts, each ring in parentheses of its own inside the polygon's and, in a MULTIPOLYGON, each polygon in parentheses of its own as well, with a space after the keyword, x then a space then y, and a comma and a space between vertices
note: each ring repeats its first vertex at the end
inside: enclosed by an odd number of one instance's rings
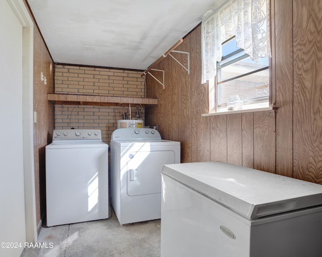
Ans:
POLYGON ((112 212, 105 220, 42 227, 37 243, 21 257, 158 257, 160 220, 121 226, 112 212))

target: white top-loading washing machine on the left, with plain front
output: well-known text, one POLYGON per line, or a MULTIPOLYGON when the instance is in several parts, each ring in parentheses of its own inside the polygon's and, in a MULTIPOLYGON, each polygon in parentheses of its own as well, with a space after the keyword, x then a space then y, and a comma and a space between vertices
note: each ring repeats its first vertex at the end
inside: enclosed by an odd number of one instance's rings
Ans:
POLYGON ((47 226, 109 217, 108 145, 100 130, 54 130, 46 146, 47 226))

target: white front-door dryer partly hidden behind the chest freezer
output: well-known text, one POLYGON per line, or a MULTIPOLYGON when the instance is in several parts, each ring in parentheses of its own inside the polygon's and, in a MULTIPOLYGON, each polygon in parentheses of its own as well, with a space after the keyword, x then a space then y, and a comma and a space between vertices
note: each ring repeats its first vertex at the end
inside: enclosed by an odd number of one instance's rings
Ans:
POLYGON ((111 139, 111 203, 120 224, 161 217, 161 169, 180 163, 180 142, 153 129, 118 129, 111 139))

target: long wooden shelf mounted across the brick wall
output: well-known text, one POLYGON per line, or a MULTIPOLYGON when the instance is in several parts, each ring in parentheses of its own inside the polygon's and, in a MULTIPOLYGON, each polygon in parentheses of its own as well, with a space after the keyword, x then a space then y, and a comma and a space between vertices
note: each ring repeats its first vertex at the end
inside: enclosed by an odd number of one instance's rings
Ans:
POLYGON ((118 97, 83 94, 53 94, 49 93, 47 99, 54 104, 67 105, 100 105, 100 106, 128 106, 129 104, 157 104, 157 99, 140 97, 118 97))

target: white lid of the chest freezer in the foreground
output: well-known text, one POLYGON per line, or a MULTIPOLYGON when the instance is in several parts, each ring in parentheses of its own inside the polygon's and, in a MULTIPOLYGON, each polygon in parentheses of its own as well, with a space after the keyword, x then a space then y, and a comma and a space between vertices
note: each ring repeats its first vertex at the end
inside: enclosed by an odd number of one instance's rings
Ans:
POLYGON ((322 185, 221 162, 168 164, 162 175, 248 219, 322 205, 322 185))

